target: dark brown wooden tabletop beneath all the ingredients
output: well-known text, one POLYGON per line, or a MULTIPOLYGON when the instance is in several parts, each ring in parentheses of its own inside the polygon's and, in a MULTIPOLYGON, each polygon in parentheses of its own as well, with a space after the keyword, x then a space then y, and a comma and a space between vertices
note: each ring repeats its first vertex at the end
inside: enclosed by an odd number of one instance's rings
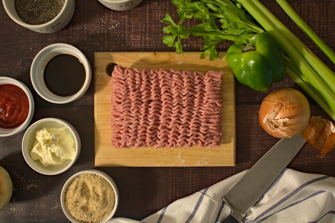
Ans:
MULTIPOLYGON (((326 56, 300 31, 274 0, 262 1, 303 43, 335 71, 326 56)), ((292 0, 297 13, 328 46, 335 50, 335 1, 292 0)), ((173 51, 162 44, 159 22, 166 13, 177 18, 170 0, 144 0, 128 11, 112 11, 97 0, 76 1, 75 14, 62 30, 41 34, 28 30, 10 19, 0 7, 0 76, 16 78, 25 83, 35 99, 32 123, 55 117, 70 122, 78 131, 82 147, 79 159, 67 171, 47 176, 31 169, 23 159, 21 140, 24 131, 0 138, 0 165, 6 168, 14 183, 10 204, 0 212, 0 222, 68 222, 60 207, 60 192, 74 173, 94 167, 93 79, 87 92, 70 104, 53 104, 42 99, 32 87, 30 66, 36 54, 54 43, 68 43, 79 48, 93 69, 93 53, 98 51, 173 51)), ((184 51, 197 51, 201 41, 189 38, 184 51)), ((218 49, 226 51, 231 42, 218 49)), ((312 115, 329 116, 289 77, 274 84, 271 90, 292 87, 303 92, 311 104, 312 115)), ((258 109, 267 93, 256 92, 236 81, 236 166, 234 167, 105 167, 120 192, 115 217, 141 220, 171 202, 191 195, 233 174, 250 168, 277 141, 258 126, 258 109)), ((109 125, 106 123, 106 125, 109 125)), ((318 150, 305 145, 288 167, 295 170, 335 176, 335 154, 323 159, 318 150)))

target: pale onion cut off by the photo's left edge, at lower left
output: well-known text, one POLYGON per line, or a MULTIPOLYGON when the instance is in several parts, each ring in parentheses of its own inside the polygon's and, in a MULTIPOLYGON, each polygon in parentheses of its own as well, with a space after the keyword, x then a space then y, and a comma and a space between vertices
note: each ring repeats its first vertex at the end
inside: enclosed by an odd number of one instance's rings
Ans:
POLYGON ((0 166, 0 211, 7 206, 12 194, 13 181, 8 172, 0 166))

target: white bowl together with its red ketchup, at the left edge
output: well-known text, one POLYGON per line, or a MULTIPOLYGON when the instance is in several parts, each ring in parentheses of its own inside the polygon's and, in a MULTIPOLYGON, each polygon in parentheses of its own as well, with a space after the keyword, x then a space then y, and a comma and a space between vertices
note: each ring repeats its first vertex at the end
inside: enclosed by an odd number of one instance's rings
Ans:
POLYGON ((34 98, 22 82, 0 77, 0 136, 24 130, 34 115, 34 98))

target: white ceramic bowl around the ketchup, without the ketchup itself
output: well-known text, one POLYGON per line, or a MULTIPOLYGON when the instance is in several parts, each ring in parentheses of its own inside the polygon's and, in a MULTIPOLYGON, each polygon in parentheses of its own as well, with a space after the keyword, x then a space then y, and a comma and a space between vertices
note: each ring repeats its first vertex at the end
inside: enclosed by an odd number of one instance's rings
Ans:
POLYGON ((27 88, 27 86, 25 86, 25 84, 23 84, 21 81, 15 80, 10 77, 0 77, 0 85, 2 84, 13 84, 13 85, 20 87, 26 93, 26 95, 28 96, 28 100, 29 100, 29 112, 28 112, 27 119, 20 126, 13 128, 13 129, 0 128, 0 136, 11 136, 19 132, 22 132, 22 130, 24 130, 29 125, 32 119, 32 116, 34 115, 35 103, 34 103, 34 98, 32 97, 32 94, 29 88, 27 88))

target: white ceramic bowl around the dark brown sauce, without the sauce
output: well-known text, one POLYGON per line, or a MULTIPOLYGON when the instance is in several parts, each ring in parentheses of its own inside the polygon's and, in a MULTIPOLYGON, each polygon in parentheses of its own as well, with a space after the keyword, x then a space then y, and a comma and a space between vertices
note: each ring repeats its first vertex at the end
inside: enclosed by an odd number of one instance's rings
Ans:
POLYGON ((32 61, 30 68, 30 79, 32 82, 32 86, 34 86, 36 92, 45 100, 57 104, 70 103, 80 98, 89 87, 89 84, 91 82, 91 76, 91 65, 89 64, 85 55, 74 46, 63 43, 51 44, 43 48, 32 61), (70 54, 72 56, 75 56, 82 62, 86 71, 85 82, 81 89, 77 93, 68 97, 61 97, 55 95, 47 88, 44 82, 43 75, 46 64, 50 61, 50 59, 59 54, 70 54))

